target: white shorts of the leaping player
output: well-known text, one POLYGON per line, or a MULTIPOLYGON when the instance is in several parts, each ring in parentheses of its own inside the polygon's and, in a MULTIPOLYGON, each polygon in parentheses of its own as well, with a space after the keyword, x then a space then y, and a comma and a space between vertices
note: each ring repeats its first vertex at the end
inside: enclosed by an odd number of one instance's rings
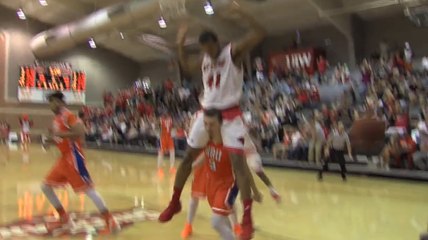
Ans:
MULTIPOLYGON (((223 138, 223 145, 228 150, 243 153, 246 134, 247 128, 240 115, 233 119, 223 119, 221 136, 223 138)), ((208 133, 204 126, 204 113, 199 111, 194 115, 187 144, 192 148, 203 148, 207 145, 208 140, 208 133)))

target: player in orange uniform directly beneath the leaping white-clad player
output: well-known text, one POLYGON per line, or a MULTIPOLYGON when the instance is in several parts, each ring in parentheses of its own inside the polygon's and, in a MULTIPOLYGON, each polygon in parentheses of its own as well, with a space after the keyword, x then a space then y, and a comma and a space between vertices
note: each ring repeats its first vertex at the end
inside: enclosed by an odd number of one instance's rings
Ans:
MULTIPOLYGON (((208 132, 209 142, 202 158, 199 158, 194 165, 202 163, 201 170, 196 171, 195 174, 205 174, 205 176, 196 176, 199 181, 193 183, 193 196, 207 197, 213 211, 211 221, 213 228, 219 233, 221 239, 233 240, 235 236, 228 216, 233 212, 238 189, 228 151, 223 147, 221 124, 221 111, 206 110, 204 112, 204 125, 208 132)), ((235 230, 239 231, 236 228, 235 230)))

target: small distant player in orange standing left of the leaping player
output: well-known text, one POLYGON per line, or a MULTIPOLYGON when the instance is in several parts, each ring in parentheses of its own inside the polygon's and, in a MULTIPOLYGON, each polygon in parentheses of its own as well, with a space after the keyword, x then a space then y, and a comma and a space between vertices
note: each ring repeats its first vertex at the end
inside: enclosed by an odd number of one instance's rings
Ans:
POLYGON ((174 174, 175 169, 175 147, 174 139, 172 138, 172 118, 165 113, 160 117, 160 144, 158 152, 158 174, 163 176, 163 156, 165 152, 169 153, 169 172, 174 174))

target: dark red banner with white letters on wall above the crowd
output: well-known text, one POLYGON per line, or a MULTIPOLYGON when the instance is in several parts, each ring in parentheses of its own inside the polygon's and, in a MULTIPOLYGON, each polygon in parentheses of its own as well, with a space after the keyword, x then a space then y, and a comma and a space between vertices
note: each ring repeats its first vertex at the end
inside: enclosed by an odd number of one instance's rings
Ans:
POLYGON ((317 69, 317 58, 322 53, 322 50, 308 48, 272 54, 269 60, 270 71, 289 72, 304 69, 313 74, 317 69))

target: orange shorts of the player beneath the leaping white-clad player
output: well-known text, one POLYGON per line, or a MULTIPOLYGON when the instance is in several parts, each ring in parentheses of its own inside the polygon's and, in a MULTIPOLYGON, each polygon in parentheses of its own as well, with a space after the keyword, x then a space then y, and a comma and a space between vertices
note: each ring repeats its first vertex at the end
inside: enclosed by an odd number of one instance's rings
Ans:
POLYGON ((233 178, 207 179, 207 199, 214 213, 224 216, 231 214, 237 196, 238 187, 233 178))

